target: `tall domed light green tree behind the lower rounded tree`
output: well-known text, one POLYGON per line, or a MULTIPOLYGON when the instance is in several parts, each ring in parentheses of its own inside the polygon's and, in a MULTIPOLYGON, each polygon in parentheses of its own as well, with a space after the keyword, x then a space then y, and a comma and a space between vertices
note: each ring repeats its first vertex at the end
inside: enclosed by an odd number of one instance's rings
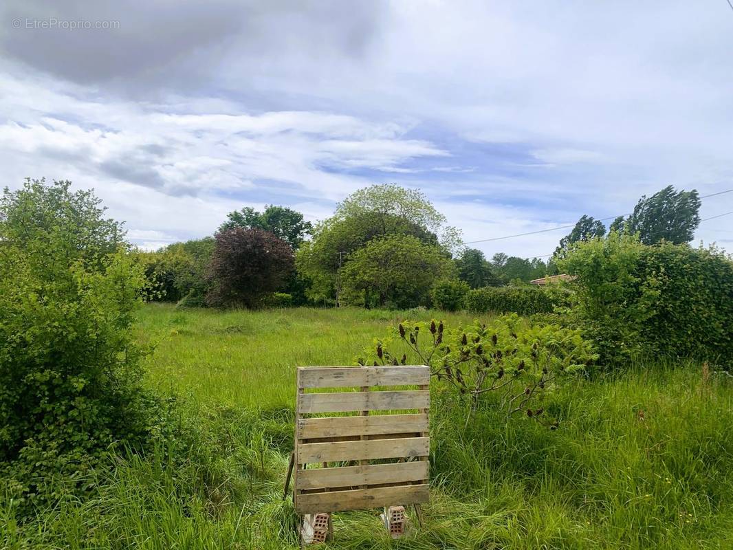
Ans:
POLYGON ((419 191, 394 185, 360 189, 336 207, 334 216, 314 227, 312 241, 297 254, 298 273, 309 279, 309 298, 332 300, 339 268, 358 249, 387 235, 410 235, 440 246, 449 256, 459 245, 457 230, 419 191))

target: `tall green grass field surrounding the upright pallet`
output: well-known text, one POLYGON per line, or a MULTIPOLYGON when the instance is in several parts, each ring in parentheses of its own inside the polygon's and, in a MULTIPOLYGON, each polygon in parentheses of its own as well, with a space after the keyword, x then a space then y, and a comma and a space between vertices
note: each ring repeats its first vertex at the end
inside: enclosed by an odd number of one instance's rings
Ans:
MULTIPOLYGON (((119 459, 88 502, 37 521, 0 509, 5 548, 295 548, 281 498, 292 449, 293 367, 353 364, 405 312, 214 312, 148 305, 148 383, 176 396, 144 457, 119 459)), ((419 312, 430 318, 431 312, 419 312)), ((446 324, 470 320, 441 313, 446 324)), ((415 314, 413 314, 415 318, 415 314)), ((733 548, 733 384, 696 364, 630 365, 553 396, 558 430, 463 411, 433 387, 432 502, 391 540, 377 511, 334 518, 338 549, 733 548)))

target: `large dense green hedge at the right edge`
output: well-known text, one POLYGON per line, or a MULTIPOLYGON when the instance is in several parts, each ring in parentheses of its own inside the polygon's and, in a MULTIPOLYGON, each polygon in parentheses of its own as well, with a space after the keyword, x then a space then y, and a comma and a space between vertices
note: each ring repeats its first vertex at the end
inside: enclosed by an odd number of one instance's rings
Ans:
POLYGON ((608 362, 640 354, 733 361, 733 263, 718 249, 645 246, 612 233, 582 243, 562 265, 578 276, 568 315, 608 362))

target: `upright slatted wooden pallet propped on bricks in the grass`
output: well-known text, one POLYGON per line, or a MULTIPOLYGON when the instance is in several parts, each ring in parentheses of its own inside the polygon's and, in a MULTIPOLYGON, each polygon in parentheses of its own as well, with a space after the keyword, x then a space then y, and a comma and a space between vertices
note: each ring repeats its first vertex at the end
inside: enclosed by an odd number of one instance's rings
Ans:
POLYGON ((427 502, 429 383, 425 366, 299 367, 296 513, 427 502))

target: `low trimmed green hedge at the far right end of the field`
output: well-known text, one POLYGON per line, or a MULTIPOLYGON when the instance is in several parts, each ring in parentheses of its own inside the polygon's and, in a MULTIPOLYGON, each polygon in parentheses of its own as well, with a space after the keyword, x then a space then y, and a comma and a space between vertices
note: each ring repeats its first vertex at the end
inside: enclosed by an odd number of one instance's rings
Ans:
POLYGON ((465 304, 476 313, 550 313, 561 303, 559 292, 536 286, 476 288, 466 293, 465 304))

